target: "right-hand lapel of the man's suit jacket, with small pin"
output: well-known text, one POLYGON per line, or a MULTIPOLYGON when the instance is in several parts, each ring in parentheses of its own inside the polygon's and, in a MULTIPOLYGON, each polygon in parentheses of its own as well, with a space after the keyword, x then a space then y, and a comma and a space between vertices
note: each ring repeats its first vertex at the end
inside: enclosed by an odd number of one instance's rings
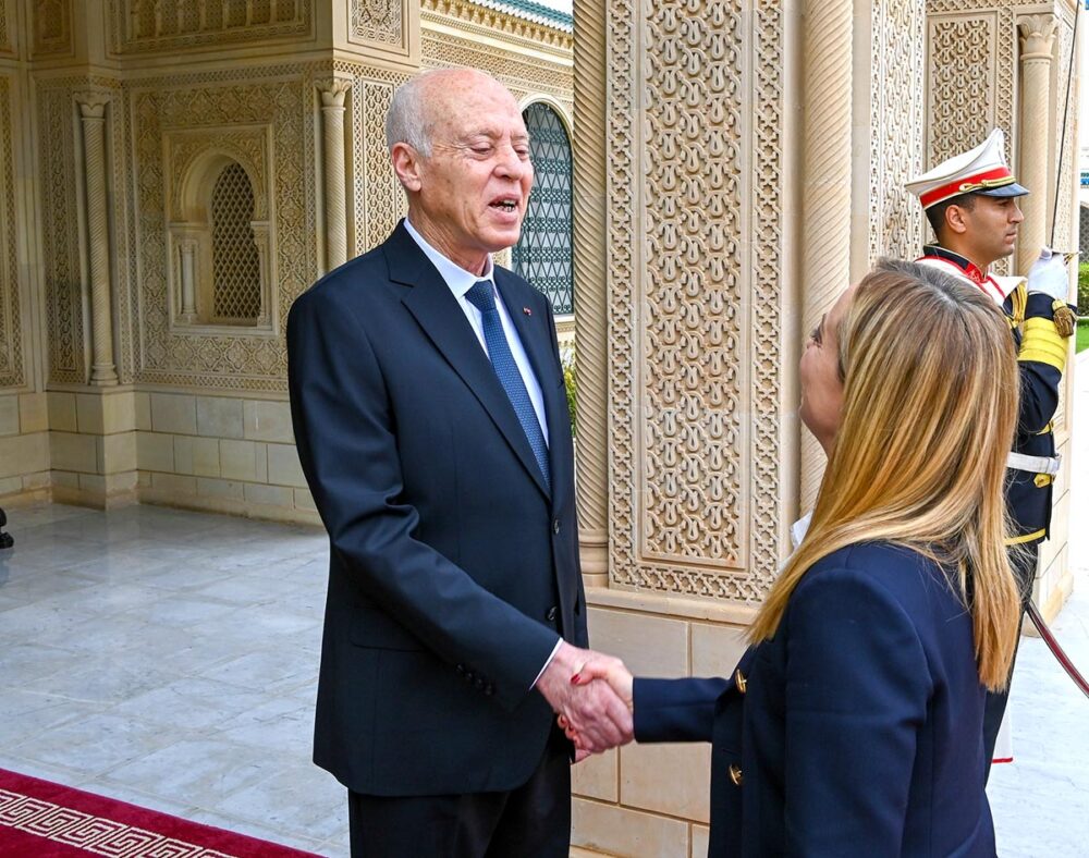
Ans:
MULTIPOLYGON (((573 485, 571 471, 574 464, 567 455, 567 438, 571 434, 571 417, 567 413, 567 394, 556 382, 555 355, 552 352, 552 333, 543 312, 525 312, 525 302, 518 299, 511 275, 502 268, 495 268, 495 287, 499 290, 506 311, 514 321, 523 348, 537 376, 541 395, 544 399, 544 421, 548 425, 549 465, 552 468, 552 491, 559 492, 553 499, 555 508, 565 500, 564 487, 573 485)), ((530 308, 531 309, 531 308, 530 308)))

